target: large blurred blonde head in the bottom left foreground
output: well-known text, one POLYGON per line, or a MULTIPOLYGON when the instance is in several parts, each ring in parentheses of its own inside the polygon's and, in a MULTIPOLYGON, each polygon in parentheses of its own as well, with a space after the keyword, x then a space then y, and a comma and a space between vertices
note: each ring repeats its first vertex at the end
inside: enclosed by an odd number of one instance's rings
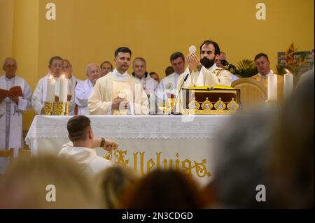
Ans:
POLYGON ((1 178, 0 197, 0 208, 100 208, 90 178, 76 163, 62 157, 13 162, 1 178), (47 198, 51 187, 55 188, 55 201, 47 198))

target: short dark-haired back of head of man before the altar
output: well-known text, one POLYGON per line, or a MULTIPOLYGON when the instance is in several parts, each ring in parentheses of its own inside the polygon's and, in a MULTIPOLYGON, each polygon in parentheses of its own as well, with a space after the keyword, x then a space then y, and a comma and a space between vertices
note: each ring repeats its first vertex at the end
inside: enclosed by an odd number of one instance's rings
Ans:
POLYGON ((66 124, 66 129, 68 129, 69 139, 71 141, 85 140, 90 127, 91 121, 84 115, 73 116, 66 124))

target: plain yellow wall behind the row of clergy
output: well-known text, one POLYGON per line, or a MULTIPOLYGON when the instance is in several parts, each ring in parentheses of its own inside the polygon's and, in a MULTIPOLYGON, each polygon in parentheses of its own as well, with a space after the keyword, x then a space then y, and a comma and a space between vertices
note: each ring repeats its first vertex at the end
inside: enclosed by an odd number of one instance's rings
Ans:
POLYGON ((292 42, 299 50, 311 50, 314 0, 262 1, 267 20, 259 21, 255 19, 258 2, 0 0, 0 59, 10 53, 17 57, 18 73, 34 90, 47 72, 50 57, 66 57, 73 73, 85 79, 86 64, 113 61, 114 50, 122 45, 131 48, 132 57, 146 58, 148 71, 162 77, 172 52, 186 55, 190 45, 199 47, 208 38, 218 42, 233 64, 265 52, 272 69, 277 52, 292 42), (56 4, 57 20, 45 19, 48 2, 56 4))

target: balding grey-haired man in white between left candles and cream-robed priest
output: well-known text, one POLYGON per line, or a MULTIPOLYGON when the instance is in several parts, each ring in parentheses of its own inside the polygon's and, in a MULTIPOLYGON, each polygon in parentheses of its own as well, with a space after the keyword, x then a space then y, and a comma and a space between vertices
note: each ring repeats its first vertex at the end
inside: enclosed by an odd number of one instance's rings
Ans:
POLYGON ((87 79, 78 82, 76 85, 76 105, 78 106, 78 115, 90 115, 87 101, 97 79, 101 78, 101 69, 97 64, 88 64, 85 71, 87 79))

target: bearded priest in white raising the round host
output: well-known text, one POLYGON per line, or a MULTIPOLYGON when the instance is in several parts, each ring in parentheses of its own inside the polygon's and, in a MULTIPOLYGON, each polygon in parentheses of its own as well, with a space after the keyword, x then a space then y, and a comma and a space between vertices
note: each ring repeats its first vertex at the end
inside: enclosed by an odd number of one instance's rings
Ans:
POLYGON ((218 59, 219 55, 220 48, 218 43, 209 40, 204 41, 200 46, 201 59, 195 55, 195 52, 190 53, 186 57, 188 67, 179 77, 177 90, 179 91, 187 74, 188 78, 186 82, 184 82, 183 88, 201 86, 212 87, 214 85, 231 86, 232 75, 230 71, 226 71, 225 69, 216 66, 216 59, 218 59))

